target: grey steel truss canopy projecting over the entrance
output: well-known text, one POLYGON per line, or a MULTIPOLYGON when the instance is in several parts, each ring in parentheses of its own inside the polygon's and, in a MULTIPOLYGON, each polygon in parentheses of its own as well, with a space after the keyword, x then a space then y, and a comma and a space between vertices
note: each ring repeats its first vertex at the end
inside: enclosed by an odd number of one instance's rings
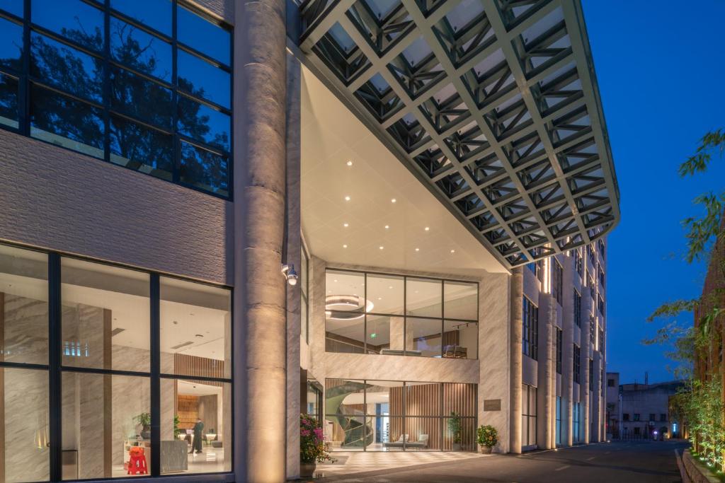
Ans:
POLYGON ((504 266, 618 222, 578 0, 308 0, 300 14, 313 67, 504 266))

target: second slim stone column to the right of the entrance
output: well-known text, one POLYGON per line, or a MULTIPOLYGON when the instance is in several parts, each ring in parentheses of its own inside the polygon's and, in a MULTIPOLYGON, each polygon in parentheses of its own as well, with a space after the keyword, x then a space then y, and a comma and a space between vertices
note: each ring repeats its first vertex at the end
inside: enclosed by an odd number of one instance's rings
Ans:
POLYGON ((543 431, 537 435, 537 445, 542 449, 552 448, 551 442, 551 406, 552 398, 555 397, 552 388, 552 331, 554 320, 552 319, 553 298, 548 293, 542 293, 539 297, 539 370, 537 371, 537 385, 541 392, 541 411, 537 411, 540 421, 537 426, 543 431))

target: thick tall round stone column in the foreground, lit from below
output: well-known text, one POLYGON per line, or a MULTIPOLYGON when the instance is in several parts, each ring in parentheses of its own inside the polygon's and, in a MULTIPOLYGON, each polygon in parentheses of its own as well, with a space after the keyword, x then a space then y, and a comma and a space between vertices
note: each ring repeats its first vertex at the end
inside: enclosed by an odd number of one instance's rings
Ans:
MULTIPOLYGON (((234 355, 237 481, 286 479, 286 29, 283 0, 236 3, 234 355)), ((297 367, 294 371, 298 371, 297 367)))

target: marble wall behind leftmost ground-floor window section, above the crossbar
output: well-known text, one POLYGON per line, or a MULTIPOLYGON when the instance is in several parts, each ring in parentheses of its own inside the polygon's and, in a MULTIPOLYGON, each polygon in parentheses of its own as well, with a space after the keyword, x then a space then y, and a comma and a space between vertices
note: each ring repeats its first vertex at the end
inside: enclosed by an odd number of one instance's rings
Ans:
POLYGON ((48 364, 48 303, 4 293, 0 350, 6 362, 48 364))

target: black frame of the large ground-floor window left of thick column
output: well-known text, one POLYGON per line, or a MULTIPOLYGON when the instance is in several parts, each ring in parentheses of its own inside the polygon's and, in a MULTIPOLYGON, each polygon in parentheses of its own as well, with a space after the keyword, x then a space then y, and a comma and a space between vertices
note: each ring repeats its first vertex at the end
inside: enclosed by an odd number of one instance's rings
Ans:
MULTIPOLYGON (((162 277, 170 280, 183 280, 186 282, 192 282, 198 285, 206 285, 208 287, 223 288, 229 291, 230 301, 234 300, 233 287, 227 285, 217 285, 208 282, 199 282, 189 277, 182 277, 178 275, 169 275, 161 272, 156 272, 149 269, 139 269, 137 267, 128 266, 124 264, 115 263, 112 261, 100 261, 97 259, 91 259, 87 256, 78 256, 71 253, 63 253, 59 251, 49 251, 40 248, 31 248, 25 245, 19 245, 15 243, 0 243, 1 246, 9 246, 13 248, 20 248, 25 251, 43 253, 47 256, 48 264, 48 364, 25 364, 16 362, 5 362, 0 359, 0 368, 17 368, 17 369, 34 369, 43 370, 48 372, 48 429, 49 429, 49 480, 50 483, 60 483, 67 481, 83 481, 77 479, 63 479, 62 477, 62 376, 63 374, 75 373, 75 374, 104 374, 104 375, 119 375, 119 376, 132 376, 132 377, 146 377, 149 379, 149 413, 151 413, 151 458, 149 458, 149 474, 141 476, 141 479, 147 478, 166 478, 172 476, 169 474, 161 474, 161 381, 164 379, 191 379, 194 381, 201 382, 220 382, 226 383, 230 386, 230 424, 234 427, 234 378, 233 368, 230 371, 230 377, 203 377, 203 376, 188 376, 185 374, 170 374, 161 371, 161 279, 162 277), (149 371, 126 371, 121 369, 101 369, 91 368, 83 366, 70 366, 63 364, 63 336, 62 336, 62 260, 79 260, 87 261, 92 264, 99 266, 113 266, 121 269, 131 270, 133 272, 140 272, 149 275, 149 371)), ((234 306, 230 303, 229 307, 230 319, 233 320, 234 306)), ((234 357, 234 324, 230 322, 229 327, 229 343, 231 349, 231 360, 234 357)), ((230 453, 233 451, 233 440, 234 436, 232 433, 232 440, 228 442, 230 453)), ((227 442, 225 442, 227 445, 227 442)), ((192 479, 199 477, 206 477, 207 475, 214 474, 233 474, 234 473, 234 460, 230 459, 231 469, 230 471, 210 471, 208 473, 194 473, 194 474, 183 474, 173 475, 173 477, 180 477, 180 481, 191 481, 192 479)), ((123 478, 94 478, 112 481, 114 479, 123 478)))

